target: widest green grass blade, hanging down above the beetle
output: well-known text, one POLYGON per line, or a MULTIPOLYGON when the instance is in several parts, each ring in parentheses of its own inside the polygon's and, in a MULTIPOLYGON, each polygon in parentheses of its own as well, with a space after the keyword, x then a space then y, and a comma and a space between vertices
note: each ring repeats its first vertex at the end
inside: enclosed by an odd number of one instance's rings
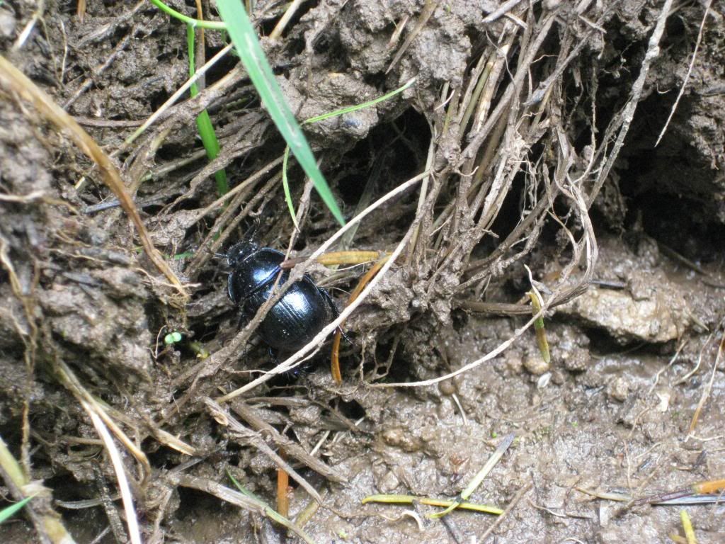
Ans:
POLYGON ((217 0, 217 9, 222 20, 227 26, 227 32, 231 38, 242 64, 247 69, 249 78, 254 88, 260 94, 273 122, 289 145, 291 152, 299 162, 302 170, 312 179, 315 189, 320 194, 325 205, 331 211, 336 220, 344 225, 342 213, 335 202, 332 191, 320 172, 315 157, 307 143, 302 129, 299 128, 297 120, 294 119, 289 105, 287 104, 282 90, 274 78, 272 68, 267 62, 262 46, 257 40, 257 33, 254 32, 252 22, 239 0, 217 0))

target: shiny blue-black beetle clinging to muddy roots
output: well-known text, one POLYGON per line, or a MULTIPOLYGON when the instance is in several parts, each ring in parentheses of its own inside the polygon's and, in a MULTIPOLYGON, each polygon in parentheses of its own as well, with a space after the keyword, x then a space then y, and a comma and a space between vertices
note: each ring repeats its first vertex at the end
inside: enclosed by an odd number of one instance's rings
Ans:
MULTIPOLYGON (((226 258, 232 269, 229 298, 239 306, 244 317, 252 318, 272 295, 284 254, 245 241, 230 247, 226 258)), ((283 271, 279 285, 288 278, 289 272, 283 271)), ((297 351, 337 316, 337 308, 328 292, 317 287, 305 274, 270 308, 257 333, 273 349, 297 351)))

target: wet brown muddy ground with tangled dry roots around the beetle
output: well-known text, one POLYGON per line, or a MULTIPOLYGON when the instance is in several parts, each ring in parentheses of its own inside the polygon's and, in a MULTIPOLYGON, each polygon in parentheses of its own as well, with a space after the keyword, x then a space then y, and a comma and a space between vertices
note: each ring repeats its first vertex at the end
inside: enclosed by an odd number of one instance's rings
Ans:
MULTIPOLYGON (((293 164, 293 234, 283 141, 232 55, 124 144, 188 78, 185 25, 146 1, 83 4, 0 2, 0 51, 32 81, 0 72, 0 437, 25 479, 4 456, 0 507, 37 493, 0 542, 64 541, 49 519, 78 543, 128 541, 91 413, 115 436, 144 542, 298 541, 220 490, 231 474, 274 505, 277 453, 320 494, 304 524, 317 543, 685 541, 682 507, 647 498, 725 477, 724 2, 322 0, 276 36, 289 4, 257 1, 300 120, 416 78, 306 126, 345 217, 431 176, 348 244, 407 240, 345 324, 342 384, 328 342, 223 405, 271 363, 215 253, 253 231, 310 255, 337 225, 293 164), (185 294, 30 86, 111 157, 185 294), (211 165, 204 108, 221 146, 211 165), (220 168, 235 192, 215 203, 220 168), (550 363, 525 328, 532 281, 550 363), (172 331, 183 339, 165 345, 172 331), (361 504, 455 498, 512 433, 470 499, 499 518, 361 504)), ((198 17, 195 2, 169 5, 198 17)), ((203 39, 199 65, 225 45, 203 39)), ((343 308, 364 270, 308 271, 343 308)), ((299 522, 315 501, 294 479, 287 493, 299 522)), ((697 542, 725 542, 722 503, 686 510, 697 542)))

